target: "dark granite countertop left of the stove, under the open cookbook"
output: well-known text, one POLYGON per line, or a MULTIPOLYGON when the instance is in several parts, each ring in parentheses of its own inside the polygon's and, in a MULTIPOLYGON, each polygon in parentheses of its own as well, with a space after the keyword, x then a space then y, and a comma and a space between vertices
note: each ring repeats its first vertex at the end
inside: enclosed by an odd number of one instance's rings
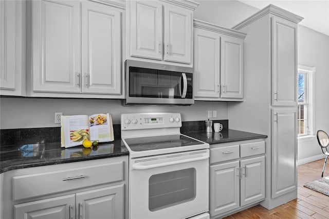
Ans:
POLYGON ((129 155, 121 139, 99 143, 98 147, 93 148, 77 146, 65 149, 61 148, 60 142, 54 142, 1 145, 0 149, 0 173, 29 167, 129 155))

